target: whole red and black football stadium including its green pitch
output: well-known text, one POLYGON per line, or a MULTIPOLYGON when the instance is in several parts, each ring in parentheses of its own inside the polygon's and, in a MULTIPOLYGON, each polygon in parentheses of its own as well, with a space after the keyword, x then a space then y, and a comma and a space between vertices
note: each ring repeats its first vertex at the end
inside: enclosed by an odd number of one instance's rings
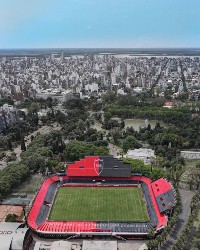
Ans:
POLYGON ((27 216, 40 237, 145 238, 167 226, 176 203, 173 186, 131 173, 112 156, 86 156, 46 178, 27 216))

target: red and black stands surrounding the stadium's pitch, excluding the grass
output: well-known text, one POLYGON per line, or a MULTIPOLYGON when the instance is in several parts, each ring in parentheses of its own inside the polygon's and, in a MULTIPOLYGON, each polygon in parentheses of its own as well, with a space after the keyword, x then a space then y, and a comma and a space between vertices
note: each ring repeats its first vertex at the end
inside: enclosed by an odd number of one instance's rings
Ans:
MULTIPOLYGON (((66 200, 67 203, 67 200, 66 200)), ((145 238, 151 230, 167 226, 169 211, 176 204, 173 186, 164 178, 152 181, 131 173, 130 164, 112 156, 86 156, 66 165, 66 171, 46 178, 27 216, 29 227, 41 237, 69 238, 95 235, 131 239, 145 238), (55 221, 49 215, 60 187, 141 187, 149 221, 55 221)), ((60 211, 62 213, 62 210, 60 211)), ((125 212, 125 211, 124 211, 125 212)))

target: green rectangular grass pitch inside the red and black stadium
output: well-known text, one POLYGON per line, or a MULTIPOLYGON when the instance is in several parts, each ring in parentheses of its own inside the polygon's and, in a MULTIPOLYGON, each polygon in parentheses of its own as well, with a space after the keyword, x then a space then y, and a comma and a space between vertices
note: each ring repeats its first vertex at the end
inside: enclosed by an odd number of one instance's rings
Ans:
POLYGON ((149 221, 141 188, 60 187, 49 220, 149 221))

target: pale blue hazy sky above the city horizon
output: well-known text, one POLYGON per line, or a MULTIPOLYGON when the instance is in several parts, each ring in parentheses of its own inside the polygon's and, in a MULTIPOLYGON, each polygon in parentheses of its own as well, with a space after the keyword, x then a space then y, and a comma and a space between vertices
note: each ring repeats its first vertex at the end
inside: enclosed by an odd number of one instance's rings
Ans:
POLYGON ((200 47, 200 0, 0 0, 0 48, 200 47))

